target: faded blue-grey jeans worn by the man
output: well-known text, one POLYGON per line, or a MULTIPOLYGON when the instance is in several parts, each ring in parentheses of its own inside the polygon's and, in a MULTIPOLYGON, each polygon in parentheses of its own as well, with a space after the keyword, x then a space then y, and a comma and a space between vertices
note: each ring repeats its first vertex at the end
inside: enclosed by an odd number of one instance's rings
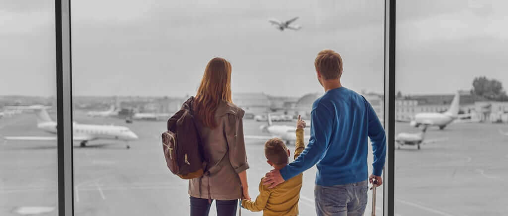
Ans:
POLYGON ((363 215, 367 206, 367 181, 314 188, 317 216, 363 215))

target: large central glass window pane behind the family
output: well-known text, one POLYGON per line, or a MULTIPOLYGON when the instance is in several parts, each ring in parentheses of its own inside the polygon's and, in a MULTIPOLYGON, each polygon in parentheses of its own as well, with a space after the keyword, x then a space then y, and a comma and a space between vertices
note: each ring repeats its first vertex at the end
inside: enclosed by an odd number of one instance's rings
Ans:
MULTIPOLYGON (((75 127, 100 126, 109 138, 76 142, 78 216, 188 214, 188 182, 166 167, 160 137, 216 56, 233 66, 233 102, 246 111, 245 135, 272 136, 260 129, 267 112, 276 125, 295 125, 297 114, 308 120, 323 94, 313 62, 325 48, 342 55, 343 84, 383 119, 384 1, 75 1, 71 7, 75 127), (294 29, 269 22, 295 17, 294 29), (113 133, 118 126, 128 128, 126 136, 113 133)), ((264 142, 246 140, 253 198, 270 170, 264 142)), ((315 214, 315 171, 304 173, 301 215, 315 214)), ((381 188, 377 195, 380 212, 381 188)))

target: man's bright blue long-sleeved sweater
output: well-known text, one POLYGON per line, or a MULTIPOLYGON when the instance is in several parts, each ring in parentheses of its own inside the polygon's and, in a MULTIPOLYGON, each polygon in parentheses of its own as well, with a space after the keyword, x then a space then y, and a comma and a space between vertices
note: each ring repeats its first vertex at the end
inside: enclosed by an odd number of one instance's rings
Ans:
POLYGON ((385 165, 386 136, 370 103, 344 87, 327 91, 312 104, 310 139, 305 150, 280 174, 289 180, 317 163, 316 185, 343 185, 367 180, 368 140, 374 154, 373 174, 385 165))

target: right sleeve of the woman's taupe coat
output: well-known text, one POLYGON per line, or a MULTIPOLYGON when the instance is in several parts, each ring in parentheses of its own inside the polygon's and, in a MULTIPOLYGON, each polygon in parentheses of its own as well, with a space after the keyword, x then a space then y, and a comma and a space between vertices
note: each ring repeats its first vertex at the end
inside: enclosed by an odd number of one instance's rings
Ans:
POLYGON ((249 168, 243 139, 243 114, 242 109, 239 109, 236 114, 227 114, 224 130, 228 142, 229 160, 236 173, 249 168))

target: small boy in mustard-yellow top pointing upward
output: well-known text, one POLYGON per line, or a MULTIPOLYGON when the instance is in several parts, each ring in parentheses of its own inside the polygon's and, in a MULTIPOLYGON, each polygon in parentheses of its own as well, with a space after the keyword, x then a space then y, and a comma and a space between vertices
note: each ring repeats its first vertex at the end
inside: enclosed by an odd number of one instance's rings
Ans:
MULTIPOLYGON (((305 121, 298 115, 296 123, 296 147, 294 159, 305 149, 303 144, 303 128, 305 121)), ((281 169, 289 163, 290 152, 284 145, 284 142, 278 138, 273 138, 265 143, 265 156, 268 164, 275 169, 281 169)), ((259 184, 259 195, 256 201, 242 200, 242 206, 250 211, 263 210, 264 216, 271 215, 298 215, 298 200, 300 199, 300 189, 302 188, 302 174, 277 185, 277 187, 268 189, 263 185, 263 178, 259 184)))

